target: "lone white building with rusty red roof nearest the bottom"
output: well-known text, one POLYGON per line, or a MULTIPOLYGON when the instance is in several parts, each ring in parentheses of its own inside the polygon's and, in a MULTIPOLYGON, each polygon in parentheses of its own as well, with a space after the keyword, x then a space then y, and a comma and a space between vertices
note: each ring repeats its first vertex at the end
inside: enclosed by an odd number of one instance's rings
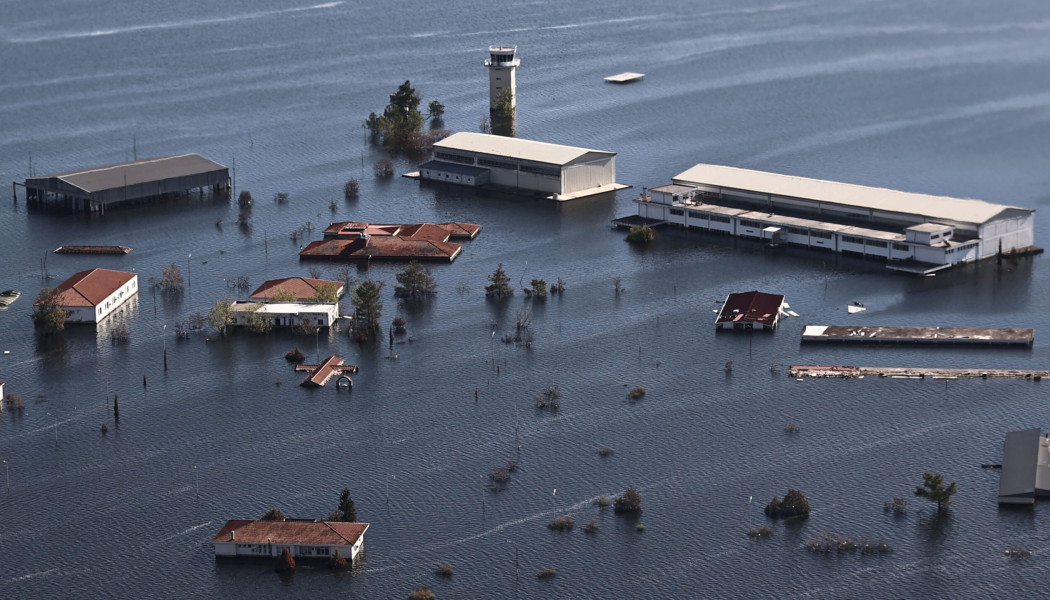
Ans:
POLYGON ((292 557, 328 560, 336 551, 349 561, 364 547, 369 523, 310 519, 262 521, 232 519, 212 538, 215 558, 277 558, 288 549, 292 557))

